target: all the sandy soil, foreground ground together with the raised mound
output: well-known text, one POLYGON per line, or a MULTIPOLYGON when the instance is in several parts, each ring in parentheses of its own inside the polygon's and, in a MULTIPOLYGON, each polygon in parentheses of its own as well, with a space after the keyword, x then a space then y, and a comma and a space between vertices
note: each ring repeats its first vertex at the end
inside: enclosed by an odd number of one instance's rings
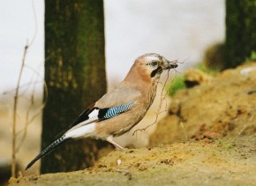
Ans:
POLYGON ((150 147, 112 151, 71 173, 20 175, 15 185, 255 185, 256 63, 176 93, 150 147))

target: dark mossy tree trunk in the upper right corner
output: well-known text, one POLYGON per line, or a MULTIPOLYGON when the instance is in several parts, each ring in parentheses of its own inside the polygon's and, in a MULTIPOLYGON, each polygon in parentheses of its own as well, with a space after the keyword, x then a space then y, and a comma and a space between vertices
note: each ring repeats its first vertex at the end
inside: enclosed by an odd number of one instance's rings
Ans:
POLYGON ((236 67, 256 51, 256 0, 226 0, 226 63, 236 67))

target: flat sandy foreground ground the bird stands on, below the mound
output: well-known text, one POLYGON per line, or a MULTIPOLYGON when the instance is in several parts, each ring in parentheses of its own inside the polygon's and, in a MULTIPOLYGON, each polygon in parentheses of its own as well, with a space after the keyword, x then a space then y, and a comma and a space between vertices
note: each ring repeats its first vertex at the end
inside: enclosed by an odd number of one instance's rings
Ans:
POLYGON ((72 173, 11 179, 13 185, 253 185, 255 137, 115 151, 72 173), (118 165, 118 162, 120 164, 118 165), (18 182, 18 183, 17 183, 18 182))

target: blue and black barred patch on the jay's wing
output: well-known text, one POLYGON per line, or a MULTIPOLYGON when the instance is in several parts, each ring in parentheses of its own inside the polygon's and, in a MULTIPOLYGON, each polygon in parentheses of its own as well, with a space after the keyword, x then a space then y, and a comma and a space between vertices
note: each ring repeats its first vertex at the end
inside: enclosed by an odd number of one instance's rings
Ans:
POLYGON ((109 119, 111 117, 115 117, 117 115, 120 115, 121 113, 129 110, 134 105, 135 101, 132 100, 132 102, 124 105, 119 105, 117 107, 108 108, 104 115, 102 115, 102 119, 109 119))

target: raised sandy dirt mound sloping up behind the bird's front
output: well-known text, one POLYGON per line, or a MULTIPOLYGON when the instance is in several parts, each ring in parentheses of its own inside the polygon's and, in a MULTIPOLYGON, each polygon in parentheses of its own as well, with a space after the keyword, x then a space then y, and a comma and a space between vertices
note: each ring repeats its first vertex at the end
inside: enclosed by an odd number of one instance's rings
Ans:
POLYGON ((223 71, 176 93, 151 145, 190 138, 253 135, 256 131, 256 63, 223 71))

